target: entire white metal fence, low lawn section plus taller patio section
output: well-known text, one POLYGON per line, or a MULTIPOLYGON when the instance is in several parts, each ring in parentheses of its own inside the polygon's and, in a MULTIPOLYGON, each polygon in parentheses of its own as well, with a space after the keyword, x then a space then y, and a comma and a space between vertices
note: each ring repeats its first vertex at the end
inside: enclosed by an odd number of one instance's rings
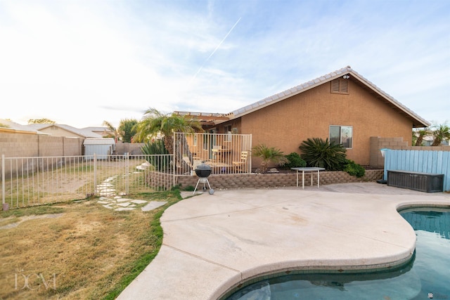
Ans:
POLYGON ((8 207, 167 190, 198 164, 212 174, 251 173, 252 136, 175 133, 174 155, 1 156, 1 199, 8 207))

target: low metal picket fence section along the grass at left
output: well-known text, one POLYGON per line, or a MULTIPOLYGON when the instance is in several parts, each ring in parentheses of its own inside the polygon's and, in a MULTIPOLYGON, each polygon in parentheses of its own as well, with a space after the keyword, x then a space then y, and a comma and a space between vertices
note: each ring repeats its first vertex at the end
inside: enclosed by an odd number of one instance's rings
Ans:
POLYGON ((1 156, 1 197, 8 207, 167 190, 173 155, 1 156))

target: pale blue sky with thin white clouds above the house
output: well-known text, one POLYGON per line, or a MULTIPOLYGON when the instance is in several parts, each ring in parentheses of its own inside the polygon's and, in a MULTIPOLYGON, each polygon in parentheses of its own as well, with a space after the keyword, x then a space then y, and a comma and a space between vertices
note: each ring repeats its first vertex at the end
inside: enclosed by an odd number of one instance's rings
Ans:
POLYGON ((0 118, 228 113, 347 65, 450 121, 448 0, 0 0, 0 118))

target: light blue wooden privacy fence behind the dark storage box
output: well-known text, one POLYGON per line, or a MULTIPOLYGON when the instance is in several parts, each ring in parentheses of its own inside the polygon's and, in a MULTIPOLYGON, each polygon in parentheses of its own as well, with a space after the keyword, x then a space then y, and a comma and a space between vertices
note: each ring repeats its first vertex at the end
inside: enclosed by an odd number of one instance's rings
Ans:
POLYGON ((387 171, 413 171, 444 174, 444 190, 450 190, 450 151, 386 150, 387 171))

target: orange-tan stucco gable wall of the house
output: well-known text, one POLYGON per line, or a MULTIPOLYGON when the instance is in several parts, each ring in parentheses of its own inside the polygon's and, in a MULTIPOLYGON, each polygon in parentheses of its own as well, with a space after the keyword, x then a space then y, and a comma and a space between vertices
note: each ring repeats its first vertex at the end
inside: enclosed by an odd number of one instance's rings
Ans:
POLYGON ((265 143, 289 154, 300 153, 307 138, 328 138, 330 125, 353 126, 347 158, 363 165, 369 164, 371 136, 401 137, 411 145, 411 120, 350 80, 348 95, 330 93, 328 82, 244 115, 239 133, 252 133, 253 145, 265 143))

